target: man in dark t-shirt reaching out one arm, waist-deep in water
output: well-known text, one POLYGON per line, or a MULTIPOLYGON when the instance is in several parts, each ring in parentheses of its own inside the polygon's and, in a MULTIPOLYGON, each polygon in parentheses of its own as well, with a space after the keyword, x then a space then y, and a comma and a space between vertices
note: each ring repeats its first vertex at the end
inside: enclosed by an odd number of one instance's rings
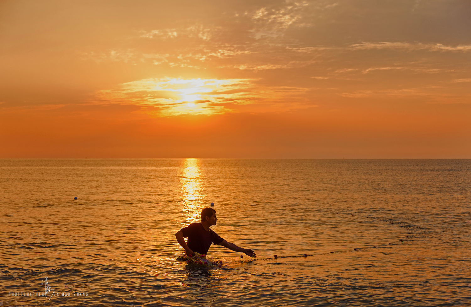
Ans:
POLYGON ((194 252, 206 255, 211 246, 211 243, 222 245, 230 250, 245 253, 250 257, 257 257, 253 250, 238 247, 234 243, 227 242, 218 234, 212 231, 209 227, 216 225, 216 210, 212 208, 204 208, 201 211, 201 223, 192 223, 184 227, 175 234, 179 244, 185 249, 187 255, 193 255, 194 252), (185 239, 188 238, 188 244, 185 239))

